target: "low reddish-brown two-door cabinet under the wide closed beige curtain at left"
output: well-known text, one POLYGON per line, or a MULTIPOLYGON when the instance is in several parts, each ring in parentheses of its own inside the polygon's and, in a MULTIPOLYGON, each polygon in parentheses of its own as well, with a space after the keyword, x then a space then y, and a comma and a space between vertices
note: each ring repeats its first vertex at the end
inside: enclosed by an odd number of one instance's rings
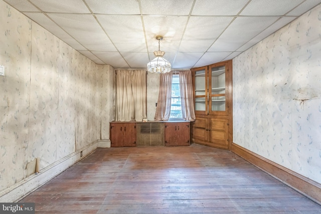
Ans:
POLYGON ((110 123, 111 147, 136 146, 136 123, 110 123))

